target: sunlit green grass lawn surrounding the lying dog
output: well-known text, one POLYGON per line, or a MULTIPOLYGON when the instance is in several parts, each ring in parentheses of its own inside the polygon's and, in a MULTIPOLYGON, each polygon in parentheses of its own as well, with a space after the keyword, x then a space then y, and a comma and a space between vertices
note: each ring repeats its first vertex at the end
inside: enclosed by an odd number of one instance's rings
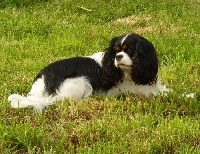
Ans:
POLYGON ((0 2, 0 153, 200 153, 198 0, 0 2), (12 109, 39 70, 138 33, 156 47, 167 97, 98 94, 37 115, 12 109), (194 98, 182 94, 195 93, 194 98))

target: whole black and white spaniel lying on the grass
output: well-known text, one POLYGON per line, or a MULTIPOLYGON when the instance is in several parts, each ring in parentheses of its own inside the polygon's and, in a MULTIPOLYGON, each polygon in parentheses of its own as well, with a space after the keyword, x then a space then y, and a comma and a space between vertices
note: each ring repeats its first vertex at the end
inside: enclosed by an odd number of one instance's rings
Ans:
POLYGON ((8 97, 13 108, 41 111, 58 100, 79 100, 99 92, 106 96, 134 93, 149 96, 168 92, 157 76, 158 58, 151 42, 137 34, 111 40, 104 52, 60 60, 45 67, 28 95, 8 97))

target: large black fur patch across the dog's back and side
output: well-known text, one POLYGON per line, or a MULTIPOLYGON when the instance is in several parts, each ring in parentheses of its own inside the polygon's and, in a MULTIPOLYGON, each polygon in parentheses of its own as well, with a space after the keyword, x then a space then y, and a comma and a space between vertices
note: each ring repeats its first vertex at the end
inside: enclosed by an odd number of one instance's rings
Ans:
POLYGON ((84 76, 88 79, 94 91, 103 90, 101 85, 102 68, 89 57, 75 57, 54 62, 41 70, 34 81, 44 76, 45 90, 54 95, 56 89, 67 78, 84 76))

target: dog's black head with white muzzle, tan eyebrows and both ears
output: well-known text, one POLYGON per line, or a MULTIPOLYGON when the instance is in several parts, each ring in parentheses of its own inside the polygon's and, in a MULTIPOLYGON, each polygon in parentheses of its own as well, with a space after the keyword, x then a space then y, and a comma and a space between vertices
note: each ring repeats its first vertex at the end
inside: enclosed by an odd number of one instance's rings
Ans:
POLYGON ((115 86, 123 81, 125 73, 130 73, 136 84, 151 85, 157 81, 156 50, 151 42, 137 34, 113 38, 105 51, 102 67, 105 84, 110 82, 115 86))

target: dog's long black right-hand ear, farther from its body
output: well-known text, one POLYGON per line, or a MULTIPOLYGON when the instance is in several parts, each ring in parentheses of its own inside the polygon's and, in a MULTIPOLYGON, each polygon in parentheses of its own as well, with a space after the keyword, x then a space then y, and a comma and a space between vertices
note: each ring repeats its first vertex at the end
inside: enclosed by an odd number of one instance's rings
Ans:
POLYGON ((157 81, 158 57, 151 42, 141 38, 136 42, 133 57, 132 80, 136 84, 152 85, 157 81))

